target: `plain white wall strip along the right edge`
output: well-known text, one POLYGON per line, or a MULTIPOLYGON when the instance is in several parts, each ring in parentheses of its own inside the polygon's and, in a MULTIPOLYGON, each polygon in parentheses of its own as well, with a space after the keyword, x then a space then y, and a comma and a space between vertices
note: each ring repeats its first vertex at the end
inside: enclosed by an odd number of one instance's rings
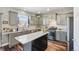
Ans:
POLYGON ((74 50, 79 51, 79 7, 74 8, 74 50))

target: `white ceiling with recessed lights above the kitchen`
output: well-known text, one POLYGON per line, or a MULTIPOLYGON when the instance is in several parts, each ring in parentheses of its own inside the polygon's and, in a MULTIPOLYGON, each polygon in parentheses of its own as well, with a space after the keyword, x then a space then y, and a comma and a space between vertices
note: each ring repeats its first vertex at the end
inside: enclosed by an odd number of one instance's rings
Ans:
POLYGON ((20 9, 34 14, 70 13, 73 11, 72 7, 22 7, 20 9))

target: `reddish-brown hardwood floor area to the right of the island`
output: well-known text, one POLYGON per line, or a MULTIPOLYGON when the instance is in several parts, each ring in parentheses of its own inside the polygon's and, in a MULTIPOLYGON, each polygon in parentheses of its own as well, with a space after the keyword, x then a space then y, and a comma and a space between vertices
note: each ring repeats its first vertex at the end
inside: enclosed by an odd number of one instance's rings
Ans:
POLYGON ((45 51, 67 51, 67 43, 61 41, 48 41, 48 47, 45 51))

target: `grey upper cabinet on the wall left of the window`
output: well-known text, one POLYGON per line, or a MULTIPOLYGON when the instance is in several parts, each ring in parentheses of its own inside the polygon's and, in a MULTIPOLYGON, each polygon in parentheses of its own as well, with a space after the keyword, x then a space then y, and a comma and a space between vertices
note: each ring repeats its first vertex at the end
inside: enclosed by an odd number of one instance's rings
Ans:
POLYGON ((9 11, 9 24, 12 26, 16 26, 18 24, 18 13, 9 11))

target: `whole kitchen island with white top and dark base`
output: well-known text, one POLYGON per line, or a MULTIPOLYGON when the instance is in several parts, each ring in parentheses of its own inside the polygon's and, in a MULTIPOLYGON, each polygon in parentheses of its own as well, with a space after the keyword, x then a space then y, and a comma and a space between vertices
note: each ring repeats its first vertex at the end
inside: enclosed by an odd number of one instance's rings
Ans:
POLYGON ((48 32, 38 31, 15 37, 23 45, 24 51, 43 51, 47 48, 48 32))

